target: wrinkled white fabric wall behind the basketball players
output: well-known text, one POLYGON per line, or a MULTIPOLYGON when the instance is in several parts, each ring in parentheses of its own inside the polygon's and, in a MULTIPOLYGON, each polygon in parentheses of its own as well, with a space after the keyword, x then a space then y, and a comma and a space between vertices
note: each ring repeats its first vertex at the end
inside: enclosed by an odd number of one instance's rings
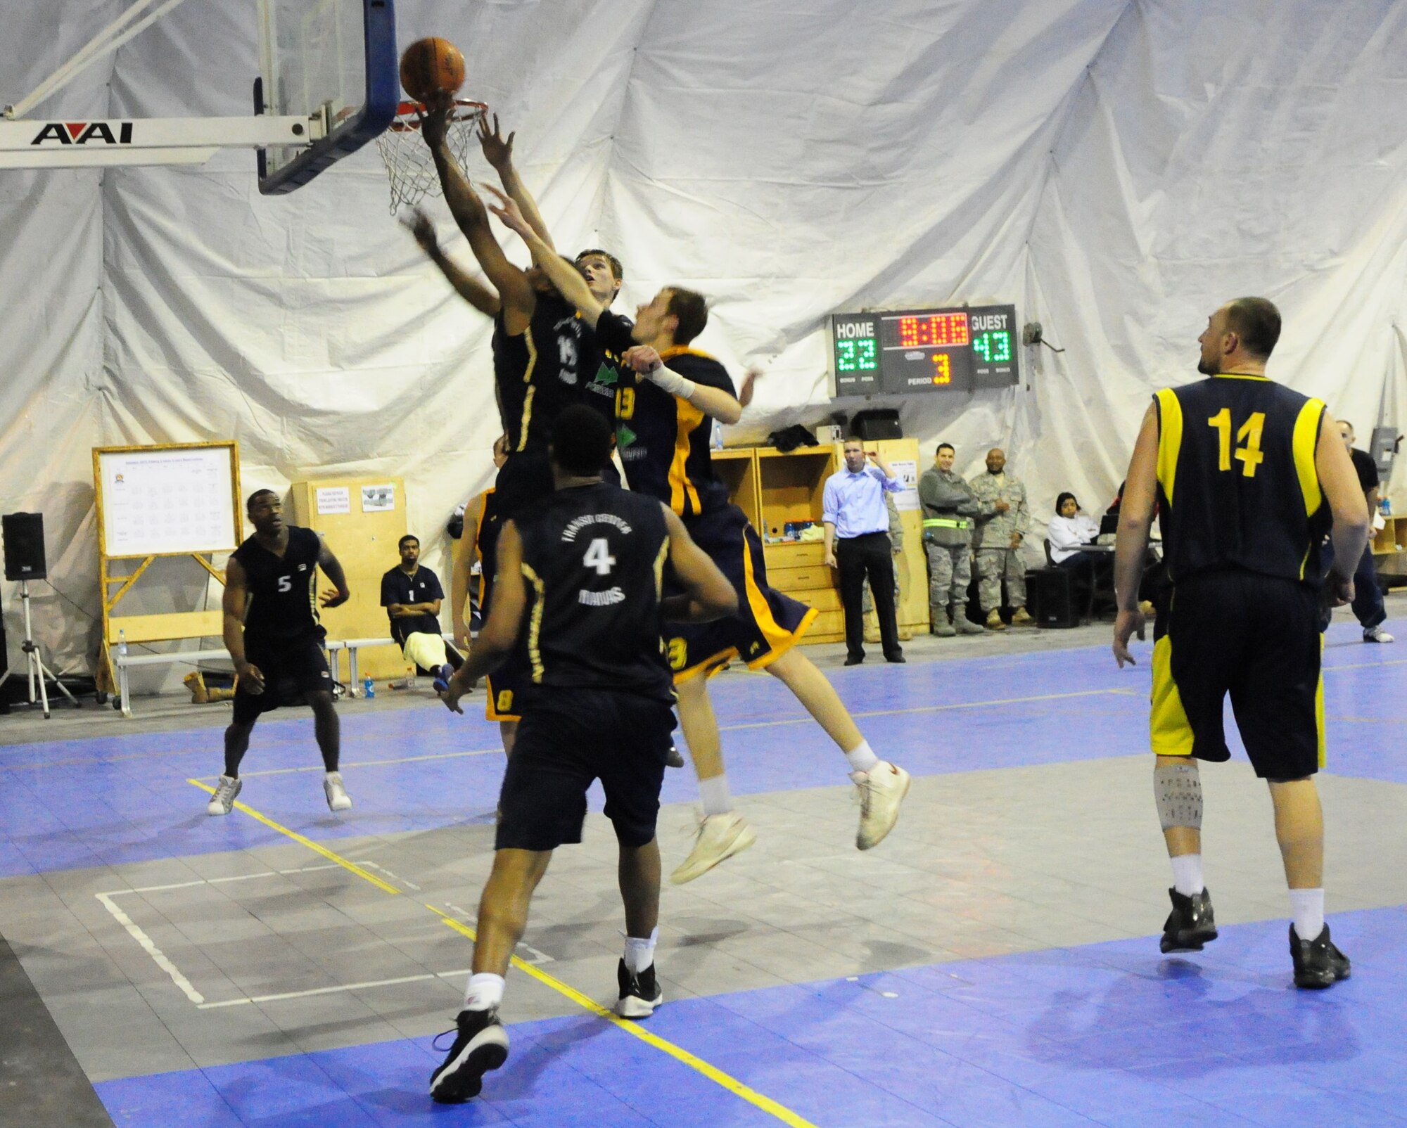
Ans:
MULTIPOLYGON (((11 3, 0 101, 121 7, 11 3)), ((32 117, 245 113, 252 7, 189 0, 32 117)), ((1107 502, 1148 394, 1193 377, 1238 294, 1286 315, 1272 374, 1365 442, 1384 390, 1407 404, 1400 3, 400 0, 398 24, 464 49, 559 245, 615 250, 628 307, 709 295, 699 345, 768 371, 739 439, 827 415, 827 312, 929 302, 1014 301, 1067 350, 1026 350, 1021 388, 902 405, 968 473, 1006 446, 1041 519, 1064 488, 1107 502)), ((438 533, 490 478, 490 326, 388 217, 374 149, 277 198, 246 152, 0 173, 0 511, 45 513, 62 665, 97 643, 97 443, 232 436, 249 489, 400 474, 447 578, 438 533)))

